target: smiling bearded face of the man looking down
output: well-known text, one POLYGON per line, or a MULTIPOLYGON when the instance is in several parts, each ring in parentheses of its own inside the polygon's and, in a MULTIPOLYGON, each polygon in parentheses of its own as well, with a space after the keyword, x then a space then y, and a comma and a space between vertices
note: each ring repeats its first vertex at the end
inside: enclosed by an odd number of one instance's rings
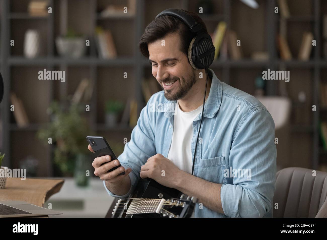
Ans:
POLYGON ((148 50, 152 75, 163 88, 165 98, 175 101, 186 96, 197 79, 187 56, 180 50, 179 34, 168 34, 163 39, 149 43, 148 50))

